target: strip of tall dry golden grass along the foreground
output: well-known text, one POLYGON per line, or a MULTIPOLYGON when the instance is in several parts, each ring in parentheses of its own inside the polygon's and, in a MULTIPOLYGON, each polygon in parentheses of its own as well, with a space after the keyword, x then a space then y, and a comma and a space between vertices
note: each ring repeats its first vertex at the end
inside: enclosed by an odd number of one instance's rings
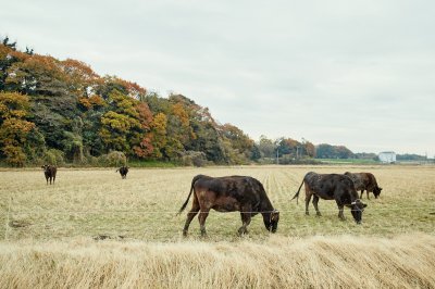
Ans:
POLYGON ((435 237, 0 243, 0 288, 434 288, 435 237))

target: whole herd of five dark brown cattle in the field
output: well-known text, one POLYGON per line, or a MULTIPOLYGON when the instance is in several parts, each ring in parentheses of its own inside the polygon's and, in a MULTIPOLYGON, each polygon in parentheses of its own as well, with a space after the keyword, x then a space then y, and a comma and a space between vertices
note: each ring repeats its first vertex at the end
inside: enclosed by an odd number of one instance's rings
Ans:
MULTIPOLYGON (((47 185, 51 180, 54 184, 57 167, 53 165, 44 165, 44 174, 47 185)), ((120 172, 121 177, 127 177, 128 167, 122 166, 116 172, 120 172)), ((357 224, 361 223, 362 212, 366 204, 361 201, 364 190, 368 199, 369 192, 373 192, 377 198, 381 194, 382 188, 377 186, 376 178, 371 173, 349 173, 345 174, 316 174, 309 172, 303 177, 298 191, 291 200, 298 202, 300 189, 304 185, 306 189, 306 214, 309 215, 308 206, 312 200, 314 210, 318 216, 321 216, 319 211, 319 200, 335 200, 338 206, 338 217, 345 219, 344 208, 350 208, 350 212, 357 224), (358 194, 361 191, 361 194, 358 194)), ((251 217, 261 214, 265 228, 275 233, 279 221, 279 211, 273 208, 269 200, 263 185, 256 178, 249 176, 226 176, 226 177, 210 177, 206 175, 197 175, 191 180, 190 192, 178 211, 181 214, 187 206, 190 196, 194 193, 194 200, 190 211, 187 213, 187 219, 183 228, 183 235, 187 236, 189 225, 194 217, 199 214, 199 225, 201 235, 206 233, 206 219, 211 209, 217 212, 240 212, 241 227, 238 234, 247 234, 248 225, 251 217)))

